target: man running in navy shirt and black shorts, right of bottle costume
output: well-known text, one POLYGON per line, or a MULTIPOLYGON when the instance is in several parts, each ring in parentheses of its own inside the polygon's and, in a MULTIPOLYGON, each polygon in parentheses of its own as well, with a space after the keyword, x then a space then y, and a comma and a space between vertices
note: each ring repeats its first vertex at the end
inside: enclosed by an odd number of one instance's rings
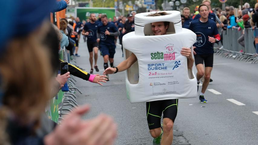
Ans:
MULTIPOLYGON (((217 29, 217 25, 211 19, 208 19, 209 8, 207 5, 201 4, 198 8, 201 15, 200 19, 193 20, 189 26, 189 29, 193 31, 196 37, 196 43, 194 44, 194 59, 197 69, 197 85, 199 89, 199 83, 202 76, 204 81, 199 95, 201 103, 207 103, 204 98, 204 92, 206 91, 211 77, 211 70, 213 67, 213 43, 220 40, 220 34, 217 29), (215 37, 215 38, 214 38, 215 37), (205 64, 205 69, 203 66, 205 64)), ((198 91, 197 89, 197 91, 198 91)))

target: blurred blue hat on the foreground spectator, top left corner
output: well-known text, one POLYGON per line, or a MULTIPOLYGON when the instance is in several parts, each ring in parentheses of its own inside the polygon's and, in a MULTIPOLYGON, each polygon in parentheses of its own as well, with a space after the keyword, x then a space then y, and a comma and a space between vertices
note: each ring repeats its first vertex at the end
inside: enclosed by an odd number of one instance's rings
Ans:
POLYGON ((14 37, 25 36, 50 16, 56 0, 8 0, 0 5, 0 55, 6 43, 14 37))

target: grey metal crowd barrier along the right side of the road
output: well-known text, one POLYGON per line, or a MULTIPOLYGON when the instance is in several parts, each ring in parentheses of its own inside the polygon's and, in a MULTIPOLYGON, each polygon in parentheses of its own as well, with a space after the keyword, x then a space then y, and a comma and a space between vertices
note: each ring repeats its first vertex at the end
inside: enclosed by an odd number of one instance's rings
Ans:
MULTIPOLYGON (((257 31, 258 28, 256 28, 257 31)), ((244 29, 244 42, 245 47, 242 47, 237 39, 242 35, 241 31, 238 31, 237 28, 223 30, 223 49, 215 48, 215 54, 226 57, 226 58, 234 58, 236 60, 245 60, 246 62, 252 61, 252 63, 256 63, 258 61, 258 56, 255 55, 255 47, 254 47, 254 31, 251 28, 244 29)))

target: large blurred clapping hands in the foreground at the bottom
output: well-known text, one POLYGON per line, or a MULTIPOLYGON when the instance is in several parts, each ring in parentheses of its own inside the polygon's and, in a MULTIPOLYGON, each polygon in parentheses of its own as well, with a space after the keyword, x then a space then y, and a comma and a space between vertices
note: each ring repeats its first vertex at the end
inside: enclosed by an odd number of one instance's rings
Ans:
POLYGON ((105 114, 82 120, 81 116, 90 110, 88 105, 76 108, 65 116, 60 126, 44 137, 47 145, 113 145, 116 138, 116 124, 105 114))

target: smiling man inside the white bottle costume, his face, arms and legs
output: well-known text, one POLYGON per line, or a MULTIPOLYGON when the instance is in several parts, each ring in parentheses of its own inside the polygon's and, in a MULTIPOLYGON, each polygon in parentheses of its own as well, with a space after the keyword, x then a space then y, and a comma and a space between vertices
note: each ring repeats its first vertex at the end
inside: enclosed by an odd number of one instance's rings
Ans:
MULTIPOLYGON (((149 16, 167 15, 166 12, 158 12, 149 16)), ((165 35, 169 26, 169 22, 154 22, 151 23, 152 32, 154 35, 165 35)), ((191 49, 183 47, 181 55, 187 57, 188 69, 192 69, 194 59, 192 58, 191 49)), ((117 67, 107 68, 103 74, 113 74, 121 72, 137 61, 135 54, 131 54, 126 60, 121 62, 117 67)), ((150 134, 153 137, 153 145, 171 145, 173 142, 173 125, 177 115, 178 99, 159 100, 146 102, 147 121, 150 134), (161 116, 163 112, 163 130, 161 128, 161 116), (164 131, 164 133, 163 133, 164 131), (163 134, 163 135, 162 135, 163 134)))

